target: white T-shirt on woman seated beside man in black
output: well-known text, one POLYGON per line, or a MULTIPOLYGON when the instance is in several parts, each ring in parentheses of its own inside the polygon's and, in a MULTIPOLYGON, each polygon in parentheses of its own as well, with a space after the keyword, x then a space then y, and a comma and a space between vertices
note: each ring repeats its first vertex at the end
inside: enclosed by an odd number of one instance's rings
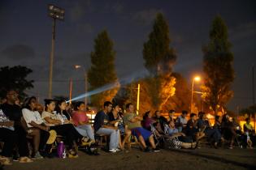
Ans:
POLYGON ((41 125, 43 123, 43 120, 41 119, 41 115, 37 111, 31 111, 31 110, 28 110, 28 108, 23 108, 22 115, 28 125, 28 128, 33 127, 32 125, 29 124, 32 121, 34 121, 38 125, 41 125))

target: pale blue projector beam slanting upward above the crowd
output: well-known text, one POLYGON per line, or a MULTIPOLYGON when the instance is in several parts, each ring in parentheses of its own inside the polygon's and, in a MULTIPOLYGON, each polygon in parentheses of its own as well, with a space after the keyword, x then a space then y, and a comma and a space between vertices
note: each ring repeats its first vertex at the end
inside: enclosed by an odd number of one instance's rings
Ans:
POLYGON ((137 71, 136 73, 133 73, 133 74, 129 75, 128 77, 119 79, 119 82, 106 84, 105 86, 99 87, 93 91, 88 91, 84 94, 81 94, 80 96, 74 97, 72 100, 67 100, 66 103, 69 103, 69 102, 75 101, 75 100, 80 100, 80 99, 88 97, 88 96, 93 96, 93 95, 96 95, 103 91, 111 90, 115 87, 121 87, 121 86, 127 85, 129 83, 132 83, 133 81, 137 81, 139 79, 144 78, 145 75, 147 75, 147 74, 148 74, 148 72, 146 70, 137 71))

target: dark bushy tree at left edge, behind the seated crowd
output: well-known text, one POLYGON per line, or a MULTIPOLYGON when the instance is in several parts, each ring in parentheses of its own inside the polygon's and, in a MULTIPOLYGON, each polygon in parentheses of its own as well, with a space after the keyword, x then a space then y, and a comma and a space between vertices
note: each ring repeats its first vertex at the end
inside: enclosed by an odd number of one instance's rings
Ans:
POLYGON ((26 66, 4 66, 0 68, 0 96, 5 97, 7 90, 15 89, 21 99, 27 96, 26 89, 33 88, 33 80, 27 80, 33 70, 26 66))

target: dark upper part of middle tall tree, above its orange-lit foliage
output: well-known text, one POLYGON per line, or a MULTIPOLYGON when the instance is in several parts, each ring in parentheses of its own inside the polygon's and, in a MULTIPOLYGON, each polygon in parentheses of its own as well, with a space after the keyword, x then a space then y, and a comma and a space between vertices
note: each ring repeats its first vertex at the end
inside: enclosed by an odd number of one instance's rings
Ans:
POLYGON ((170 48, 169 26, 162 13, 158 13, 154 20, 153 31, 149 40, 145 42, 143 58, 145 68, 151 74, 171 72, 171 67, 176 61, 176 53, 170 48))

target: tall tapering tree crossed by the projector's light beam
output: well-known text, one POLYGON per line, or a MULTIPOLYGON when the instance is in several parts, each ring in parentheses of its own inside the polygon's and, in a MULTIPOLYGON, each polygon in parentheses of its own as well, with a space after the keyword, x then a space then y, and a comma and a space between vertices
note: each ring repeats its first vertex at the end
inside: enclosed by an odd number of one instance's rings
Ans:
MULTIPOLYGON (((88 71, 90 90, 117 82, 113 46, 114 43, 108 36, 106 30, 100 32, 94 40, 94 51, 91 53, 92 65, 88 71)), ((93 105, 102 106, 105 100, 112 100, 116 92, 116 88, 113 88, 112 90, 103 91, 92 96, 93 105)))

